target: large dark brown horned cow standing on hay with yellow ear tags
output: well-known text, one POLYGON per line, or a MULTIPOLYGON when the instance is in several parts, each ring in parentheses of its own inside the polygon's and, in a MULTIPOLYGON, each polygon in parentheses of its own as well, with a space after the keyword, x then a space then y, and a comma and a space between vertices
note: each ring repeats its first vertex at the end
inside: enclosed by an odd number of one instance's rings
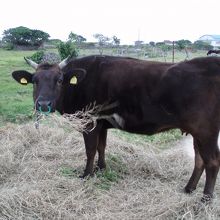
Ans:
POLYGON ((15 71, 21 84, 33 83, 35 107, 42 112, 74 113, 90 103, 117 103, 84 133, 87 164, 83 177, 105 168, 107 129, 152 135, 179 128, 194 138, 195 167, 185 187, 195 190, 204 169, 203 201, 213 195, 219 170, 220 58, 203 57, 178 64, 132 58, 88 56, 40 64, 27 60, 36 72, 15 71), (102 118, 102 119, 101 119, 102 118))

